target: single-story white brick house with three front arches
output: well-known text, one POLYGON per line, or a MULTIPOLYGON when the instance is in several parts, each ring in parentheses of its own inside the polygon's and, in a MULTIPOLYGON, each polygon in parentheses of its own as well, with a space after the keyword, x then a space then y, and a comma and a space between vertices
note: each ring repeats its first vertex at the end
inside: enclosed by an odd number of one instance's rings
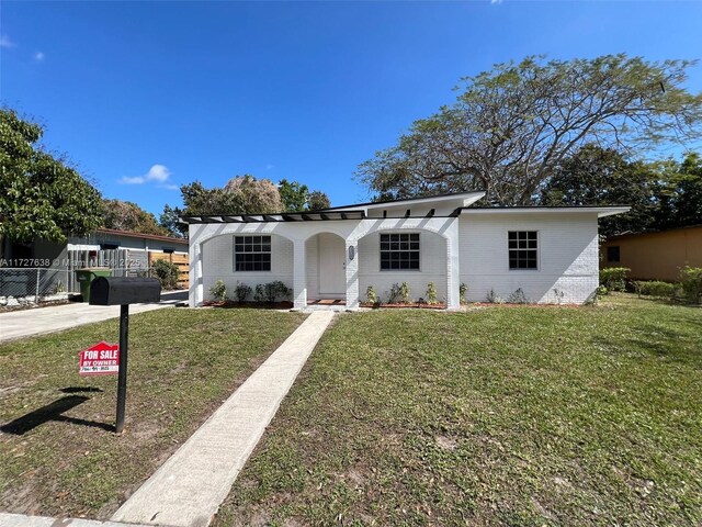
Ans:
POLYGON ((490 290, 521 288, 534 302, 582 303, 598 287, 598 218, 626 206, 476 208, 484 192, 336 206, 324 211, 189 216, 190 305, 223 280, 280 280, 296 309, 320 299, 353 310, 369 285, 383 298, 407 282, 426 298, 434 282, 449 309, 490 290))

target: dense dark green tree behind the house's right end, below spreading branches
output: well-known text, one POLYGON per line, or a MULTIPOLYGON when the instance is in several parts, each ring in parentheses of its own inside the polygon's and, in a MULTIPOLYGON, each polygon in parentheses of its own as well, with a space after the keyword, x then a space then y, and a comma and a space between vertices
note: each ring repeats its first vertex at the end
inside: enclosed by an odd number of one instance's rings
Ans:
POLYGON ((655 228, 657 182, 663 177, 656 164, 630 162, 611 148, 585 145, 555 167, 542 189, 543 205, 622 205, 626 214, 600 220, 600 234, 655 228))

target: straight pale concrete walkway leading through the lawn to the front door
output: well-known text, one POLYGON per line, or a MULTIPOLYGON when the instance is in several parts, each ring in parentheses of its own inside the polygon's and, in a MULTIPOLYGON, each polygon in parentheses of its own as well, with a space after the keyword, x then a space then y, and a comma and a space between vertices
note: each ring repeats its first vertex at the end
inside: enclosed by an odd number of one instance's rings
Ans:
POLYGON ((312 313, 112 520, 207 526, 332 317, 312 313))

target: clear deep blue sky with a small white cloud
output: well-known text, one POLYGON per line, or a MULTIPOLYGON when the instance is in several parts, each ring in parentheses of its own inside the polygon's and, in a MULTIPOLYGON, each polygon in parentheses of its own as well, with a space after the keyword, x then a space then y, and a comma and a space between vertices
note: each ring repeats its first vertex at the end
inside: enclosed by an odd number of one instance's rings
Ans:
MULTIPOLYGON (((702 2, 11 2, 4 104, 107 198, 159 213, 179 184, 252 173, 341 205, 356 166, 531 54, 702 56, 702 2)), ((702 90, 702 66, 688 83, 702 90)))

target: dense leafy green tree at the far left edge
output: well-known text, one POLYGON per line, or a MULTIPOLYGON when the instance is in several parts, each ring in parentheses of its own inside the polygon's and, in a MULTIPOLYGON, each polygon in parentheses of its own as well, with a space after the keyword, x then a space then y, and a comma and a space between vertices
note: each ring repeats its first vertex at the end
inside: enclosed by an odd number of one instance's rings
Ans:
POLYGON ((0 109, 0 238, 64 242, 102 223, 100 192, 42 149, 43 135, 41 125, 0 109))

